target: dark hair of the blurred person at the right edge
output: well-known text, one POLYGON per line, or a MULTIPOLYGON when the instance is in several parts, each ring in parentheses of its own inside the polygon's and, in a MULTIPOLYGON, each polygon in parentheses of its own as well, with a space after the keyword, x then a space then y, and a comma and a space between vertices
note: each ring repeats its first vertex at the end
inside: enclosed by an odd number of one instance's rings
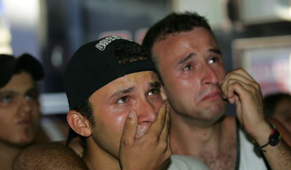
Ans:
POLYGON ((264 97, 264 109, 267 116, 274 114, 277 104, 283 99, 290 99, 291 95, 288 93, 269 94, 264 97))

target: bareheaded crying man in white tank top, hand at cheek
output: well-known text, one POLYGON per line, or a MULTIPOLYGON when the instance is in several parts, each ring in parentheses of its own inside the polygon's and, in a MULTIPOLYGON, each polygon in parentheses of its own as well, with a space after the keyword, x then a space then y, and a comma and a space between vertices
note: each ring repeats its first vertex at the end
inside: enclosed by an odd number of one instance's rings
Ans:
POLYGON ((171 13, 148 30, 142 45, 171 105, 174 154, 198 158, 212 170, 268 169, 268 164, 290 169, 290 147, 265 117, 259 84, 241 68, 226 73, 204 17, 171 13), (226 116, 227 102, 236 105, 236 117, 226 116), (252 140, 258 152, 266 152, 258 155, 252 140))

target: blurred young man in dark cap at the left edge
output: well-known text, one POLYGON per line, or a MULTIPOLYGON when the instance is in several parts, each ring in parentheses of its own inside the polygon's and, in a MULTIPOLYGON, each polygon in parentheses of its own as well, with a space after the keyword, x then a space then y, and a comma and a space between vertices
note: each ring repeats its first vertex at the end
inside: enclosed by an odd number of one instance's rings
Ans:
POLYGON ((40 117, 36 81, 42 78, 42 66, 31 55, 0 55, 1 169, 12 169, 16 155, 36 141, 40 117))

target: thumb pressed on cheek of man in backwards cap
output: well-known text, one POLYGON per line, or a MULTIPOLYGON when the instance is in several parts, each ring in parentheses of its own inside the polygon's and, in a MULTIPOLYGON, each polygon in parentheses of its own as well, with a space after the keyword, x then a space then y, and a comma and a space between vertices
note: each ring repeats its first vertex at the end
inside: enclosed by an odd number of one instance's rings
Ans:
POLYGON ((132 144, 134 142, 137 125, 138 122, 136 111, 130 110, 125 121, 123 135, 120 140, 121 143, 132 144))

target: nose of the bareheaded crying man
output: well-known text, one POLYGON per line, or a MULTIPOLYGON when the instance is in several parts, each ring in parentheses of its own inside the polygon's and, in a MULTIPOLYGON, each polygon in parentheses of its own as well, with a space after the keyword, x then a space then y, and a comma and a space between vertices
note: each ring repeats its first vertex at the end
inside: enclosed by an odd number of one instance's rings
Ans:
POLYGON ((219 80, 213 68, 205 63, 202 70, 202 84, 203 85, 217 85, 219 80))

